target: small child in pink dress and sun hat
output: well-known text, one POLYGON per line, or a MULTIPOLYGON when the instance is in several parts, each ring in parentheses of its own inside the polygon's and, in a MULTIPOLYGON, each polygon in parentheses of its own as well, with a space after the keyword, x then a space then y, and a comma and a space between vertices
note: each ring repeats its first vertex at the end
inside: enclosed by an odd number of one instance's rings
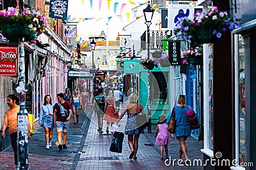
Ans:
MULTIPOLYGON (((163 153, 165 150, 165 157, 168 159, 168 144, 170 144, 169 140, 169 132, 168 125, 166 125, 166 117, 164 115, 160 115, 157 121, 158 125, 156 128, 156 145, 160 145, 160 154, 161 160, 163 160, 163 153), (163 150, 164 146, 164 150, 163 150)), ((172 134, 172 138, 174 138, 172 134)))

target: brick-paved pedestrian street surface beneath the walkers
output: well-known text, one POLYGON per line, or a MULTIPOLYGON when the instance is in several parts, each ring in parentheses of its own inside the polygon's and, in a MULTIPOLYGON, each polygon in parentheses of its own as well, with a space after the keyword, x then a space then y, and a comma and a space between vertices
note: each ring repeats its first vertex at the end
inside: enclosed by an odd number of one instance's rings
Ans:
MULTIPOLYGON (((90 111, 88 106, 87 111, 90 111)), ((122 119, 121 129, 124 128, 126 118, 122 119)), ((152 126, 152 133, 140 136, 138 159, 129 159, 129 146, 127 136, 124 137, 123 152, 109 152, 112 134, 103 134, 97 131, 97 117, 95 114, 83 116, 83 110, 80 111, 80 122, 78 125, 70 124, 67 139, 67 150, 58 151, 57 145, 53 145, 50 150, 45 150, 44 129, 36 129, 34 136, 29 139, 29 169, 202 169, 202 167, 180 167, 166 166, 164 160, 160 160, 159 146, 154 146, 154 131, 156 125, 152 126)), ((104 121, 104 127, 106 122, 104 121)), ((56 129, 53 132, 53 143, 57 141, 56 129)), ((203 148, 203 142, 198 142, 190 137, 187 140, 189 158, 202 159, 203 154, 200 149, 203 148)), ((168 145, 169 155, 173 159, 178 157, 179 144, 177 139, 171 139, 168 145)), ((13 152, 8 147, 0 152, 0 169, 13 168, 13 152)))

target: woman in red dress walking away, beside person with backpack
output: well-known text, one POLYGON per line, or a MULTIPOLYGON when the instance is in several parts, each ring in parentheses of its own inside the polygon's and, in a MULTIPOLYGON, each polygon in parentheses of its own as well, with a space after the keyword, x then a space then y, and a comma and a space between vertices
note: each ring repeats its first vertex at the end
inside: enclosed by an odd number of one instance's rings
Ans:
POLYGON ((112 125, 116 122, 117 118, 119 117, 118 113, 116 113, 116 102, 115 97, 113 96, 112 90, 109 90, 108 96, 106 97, 105 102, 105 115, 104 119, 107 121, 107 129, 106 132, 109 133, 109 124, 112 125))

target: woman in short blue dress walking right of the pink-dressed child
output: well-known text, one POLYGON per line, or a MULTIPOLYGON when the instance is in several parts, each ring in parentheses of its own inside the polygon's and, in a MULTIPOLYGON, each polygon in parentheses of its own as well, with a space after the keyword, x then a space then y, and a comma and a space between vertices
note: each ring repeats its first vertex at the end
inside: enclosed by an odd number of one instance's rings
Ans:
POLYGON ((172 117, 175 117, 175 136, 179 140, 179 160, 181 160, 182 153, 184 154, 185 161, 188 160, 187 147, 185 145, 185 141, 190 136, 190 124, 187 119, 186 111, 189 110, 189 106, 186 105, 186 97, 185 95, 180 95, 177 106, 174 106, 172 109, 172 113, 166 124, 169 124, 172 117), (175 110, 175 111, 174 111, 175 110), (175 113, 175 115, 174 115, 175 113))

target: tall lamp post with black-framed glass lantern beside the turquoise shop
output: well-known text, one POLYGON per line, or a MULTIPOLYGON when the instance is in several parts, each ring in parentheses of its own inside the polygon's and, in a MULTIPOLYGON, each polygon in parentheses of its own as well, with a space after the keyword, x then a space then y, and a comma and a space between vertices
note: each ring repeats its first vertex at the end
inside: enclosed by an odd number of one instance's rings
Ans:
MULTIPOLYGON (((154 9, 151 8, 150 4, 148 4, 147 8, 143 10, 144 17, 145 17, 145 24, 147 25, 147 57, 150 57, 150 32, 149 26, 152 24, 151 20, 154 14, 154 9)), ((148 111, 148 133, 151 133, 151 95, 150 95, 150 71, 148 69, 148 104, 147 104, 147 111, 148 111)))

